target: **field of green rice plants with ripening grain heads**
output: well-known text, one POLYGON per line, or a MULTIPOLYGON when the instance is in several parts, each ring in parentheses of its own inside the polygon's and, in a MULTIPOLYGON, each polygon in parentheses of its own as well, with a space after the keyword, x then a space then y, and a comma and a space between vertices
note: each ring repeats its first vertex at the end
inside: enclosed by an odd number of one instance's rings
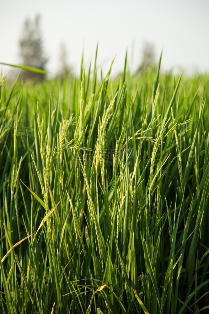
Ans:
POLYGON ((1 79, 0 313, 208 313, 208 76, 159 66, 1 79))

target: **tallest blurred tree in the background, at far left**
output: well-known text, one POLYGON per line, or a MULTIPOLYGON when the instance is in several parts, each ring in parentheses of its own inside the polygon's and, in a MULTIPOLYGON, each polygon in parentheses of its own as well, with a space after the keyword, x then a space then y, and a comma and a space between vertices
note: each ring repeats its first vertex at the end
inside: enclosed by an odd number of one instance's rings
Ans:
MULTIPOLYGON (((19 49, 23 65, 45 70, 48 58, 46 58, 43 49, 40 15, 37 15, 34 21, 30 19, 25 20, 19 40, 19 49)), ((24 79, 43 79, 43 74, 24 71, 23 77, 24 79)))

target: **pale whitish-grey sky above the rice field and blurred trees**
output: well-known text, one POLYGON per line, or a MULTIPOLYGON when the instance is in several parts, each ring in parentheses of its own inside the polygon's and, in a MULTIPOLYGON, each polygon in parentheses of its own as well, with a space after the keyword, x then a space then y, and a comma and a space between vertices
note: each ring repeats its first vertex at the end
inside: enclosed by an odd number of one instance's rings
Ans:
POLYGON ((134 71, 142 61, 144 41, 154 44, 156 61, 163 49, 162 70, 209 73, 209 0, 0 0, 0 62, 21 63, 23 24, 36 14, 41 15, 51 75, 59 68, 62 42, 77 74, 83 51, 85 66, 94 62, 97 42, 97 64, 104 74, 115 55, 112 73, 123 70, 126 49, 128 67, 134 71))

